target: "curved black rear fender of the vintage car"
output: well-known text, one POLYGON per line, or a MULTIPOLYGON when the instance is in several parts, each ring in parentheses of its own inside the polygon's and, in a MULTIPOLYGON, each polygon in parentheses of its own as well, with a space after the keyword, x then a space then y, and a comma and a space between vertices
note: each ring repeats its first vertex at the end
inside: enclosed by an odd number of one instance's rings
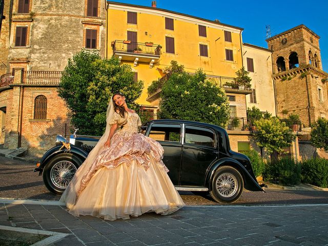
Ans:
POLYGON ((229 157, 224 157, 217 160, 208 169, 206 175, 206 185, 209 187, 209 191, 212 190, 212 180, 216 170, 222 166, 231 166, 237 169, 242 176, 245 189, 249 191, 263 191, 258 182, 249 174, 249 172, 244 168, 244 166, 242 166, 239 161, 229 157))

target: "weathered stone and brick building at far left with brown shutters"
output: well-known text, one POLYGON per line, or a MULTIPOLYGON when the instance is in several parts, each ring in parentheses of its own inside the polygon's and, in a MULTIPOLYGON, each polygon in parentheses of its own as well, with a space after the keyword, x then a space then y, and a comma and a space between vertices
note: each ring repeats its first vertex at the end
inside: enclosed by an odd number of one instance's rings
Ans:
POLYGON ((2 1, 0 144, 42 155, 56 134, 69 134, 67 108, 56 92, 69 58, 106 49, 106 1, 2 1))

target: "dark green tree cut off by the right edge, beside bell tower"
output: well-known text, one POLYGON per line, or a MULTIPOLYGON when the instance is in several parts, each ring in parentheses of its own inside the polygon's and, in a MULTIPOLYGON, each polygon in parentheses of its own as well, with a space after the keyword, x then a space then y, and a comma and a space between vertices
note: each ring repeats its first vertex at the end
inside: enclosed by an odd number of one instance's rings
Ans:
POLYGON ((312 145, 328 152, 328 120, 319 118, 311 127, 312 145))

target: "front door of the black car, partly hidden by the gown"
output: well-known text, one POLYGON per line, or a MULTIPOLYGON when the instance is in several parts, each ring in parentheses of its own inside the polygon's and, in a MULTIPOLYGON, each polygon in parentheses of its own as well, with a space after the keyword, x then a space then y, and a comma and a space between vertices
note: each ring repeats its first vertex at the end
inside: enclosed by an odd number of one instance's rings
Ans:
MULTIPOLYGON (((179 185, 181 163, 181 125, 154 123, 150 126, 148 136, 155 139, 164 149, 163 162, 170 170, 168 175, 173 185, 179 185)), ((146 134, 147 135, 147 134, 146 134)))

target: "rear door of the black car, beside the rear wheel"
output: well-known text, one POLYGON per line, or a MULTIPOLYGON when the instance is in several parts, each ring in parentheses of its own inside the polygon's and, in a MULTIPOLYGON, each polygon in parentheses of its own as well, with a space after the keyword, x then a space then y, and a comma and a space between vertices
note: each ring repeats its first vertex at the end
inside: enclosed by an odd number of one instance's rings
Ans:
POLYGON ((180 171, 181 186, 204 186, 208 167, 218 159, 215 132, 206 127, 186 125, 180 171))

